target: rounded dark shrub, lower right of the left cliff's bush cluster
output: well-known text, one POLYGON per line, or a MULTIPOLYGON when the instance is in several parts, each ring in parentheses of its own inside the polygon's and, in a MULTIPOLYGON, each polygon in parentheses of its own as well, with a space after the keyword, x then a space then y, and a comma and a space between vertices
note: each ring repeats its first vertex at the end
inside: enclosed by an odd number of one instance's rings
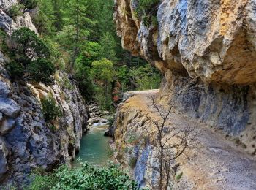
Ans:
POLYGON ((48 85, 53 83, 53 77, 51 75, 55 71, 53 63, 44 58, 31 61, 27 66, 27 73, 31 80, 48 85))

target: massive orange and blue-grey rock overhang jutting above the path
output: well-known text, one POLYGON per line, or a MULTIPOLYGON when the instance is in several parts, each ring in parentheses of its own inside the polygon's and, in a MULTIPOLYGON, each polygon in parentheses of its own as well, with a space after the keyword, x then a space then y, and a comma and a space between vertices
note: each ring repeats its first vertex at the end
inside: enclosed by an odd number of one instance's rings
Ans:
POLYGON ((255 1, 161 1, 158 26, 149 28, 134 18, 136 4, 116 0, 124 48, 206 82, 256 82, 255 1))

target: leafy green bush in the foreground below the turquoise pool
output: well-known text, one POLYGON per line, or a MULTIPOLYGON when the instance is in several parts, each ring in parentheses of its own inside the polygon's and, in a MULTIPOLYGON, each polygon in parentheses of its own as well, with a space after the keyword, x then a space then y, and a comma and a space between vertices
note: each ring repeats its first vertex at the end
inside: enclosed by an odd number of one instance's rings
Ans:
POLYGON ((129 179, 124 171, 117 165, 110 164, 109 167, 97 169, 83 164, 82 167, 70 170, 61 166, 50 175, 34 175, 34 181, 27 190, 43 189, 138 189, 135 181, 129 179))

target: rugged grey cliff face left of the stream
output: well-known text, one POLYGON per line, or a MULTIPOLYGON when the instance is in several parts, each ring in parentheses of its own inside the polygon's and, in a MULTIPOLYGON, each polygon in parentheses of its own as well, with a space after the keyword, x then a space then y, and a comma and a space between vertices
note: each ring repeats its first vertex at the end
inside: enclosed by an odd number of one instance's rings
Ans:
MULTIPOLYGON (((0 28, 7 34, 20 27, 36 31, 29 12, 12 20, 7 9, 15 0, 0 1, 0 28)), ((56 72, 55 84, 12 81, 0 52, 0 184, 23 184, 32 170, 53 170, 70 164, 86 130, 87 107, 69 75, 56 72), (42 114, 42 99, 53 95, 62 116, 50 127, 42 114)), ((1 189, 1 188, 0 188, 1 189)))

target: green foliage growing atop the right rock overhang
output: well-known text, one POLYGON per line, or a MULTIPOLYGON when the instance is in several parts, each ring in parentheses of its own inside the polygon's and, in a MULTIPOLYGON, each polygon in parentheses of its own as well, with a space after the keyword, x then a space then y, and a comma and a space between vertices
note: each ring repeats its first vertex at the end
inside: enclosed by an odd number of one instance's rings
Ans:
POLYGON ((138 7, 135 15, 137 15, 143 21, 145 26, 150 26, 151 23, 157 26, 157 8, 159 0, 140 0, 138 1, 138 7))

